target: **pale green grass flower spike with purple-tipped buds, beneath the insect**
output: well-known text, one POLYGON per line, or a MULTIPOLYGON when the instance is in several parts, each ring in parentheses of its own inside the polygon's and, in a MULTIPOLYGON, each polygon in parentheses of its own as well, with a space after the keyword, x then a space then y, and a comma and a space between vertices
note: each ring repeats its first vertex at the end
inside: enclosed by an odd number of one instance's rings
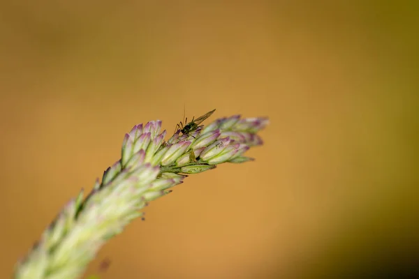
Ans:
POLYGON ((96 180, 86 198, 81 192, 66 204, 27 258, 18 262, 15 279, 82 276, 105 241, 142 218, 140 209, 171 193, 186 174, 253 160, 243 154, 262 144, 256 132, 268 123, 231 116, 203 128, 200 118, 189 133, 177 130, 167 142, 166 130, 159 135, 159 120, 134 126, 124 137, 121 159, 104 172, 101 183, 96 180))

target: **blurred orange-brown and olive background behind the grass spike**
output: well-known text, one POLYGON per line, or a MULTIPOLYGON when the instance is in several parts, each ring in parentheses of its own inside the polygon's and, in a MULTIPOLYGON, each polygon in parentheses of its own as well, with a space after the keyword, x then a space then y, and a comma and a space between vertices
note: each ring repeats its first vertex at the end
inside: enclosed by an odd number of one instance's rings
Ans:
POLYGON ((184 107, 269 116, 256 161, 190 176, 87 275, 418 274, 416 1, 0 5, 0 278, 124 133, 184 107))

